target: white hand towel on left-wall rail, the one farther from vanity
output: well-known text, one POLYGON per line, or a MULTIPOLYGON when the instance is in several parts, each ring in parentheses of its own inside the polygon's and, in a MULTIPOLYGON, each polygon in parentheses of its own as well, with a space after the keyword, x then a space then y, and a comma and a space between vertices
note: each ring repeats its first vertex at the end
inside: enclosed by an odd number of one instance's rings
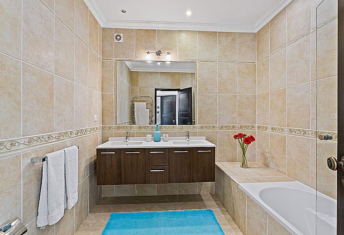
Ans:
POLYGON ((56 224, 64 214, 64 151, 59 150, 45 156, 37 227, 56 224))

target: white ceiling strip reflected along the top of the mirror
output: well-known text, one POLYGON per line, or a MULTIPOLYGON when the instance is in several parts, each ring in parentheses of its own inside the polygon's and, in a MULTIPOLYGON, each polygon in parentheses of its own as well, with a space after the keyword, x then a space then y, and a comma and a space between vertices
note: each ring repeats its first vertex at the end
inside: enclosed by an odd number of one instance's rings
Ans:
POLYGON ((194 73, 194 62, 125 61, 130 71, 194 73))

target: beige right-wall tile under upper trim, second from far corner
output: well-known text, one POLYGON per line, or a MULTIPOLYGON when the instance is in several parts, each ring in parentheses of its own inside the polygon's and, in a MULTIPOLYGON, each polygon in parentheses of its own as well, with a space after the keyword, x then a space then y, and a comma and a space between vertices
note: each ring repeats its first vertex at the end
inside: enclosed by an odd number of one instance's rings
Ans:
POLYGON ((286 87, 287 49, 270 56, 270 91, 286 87))

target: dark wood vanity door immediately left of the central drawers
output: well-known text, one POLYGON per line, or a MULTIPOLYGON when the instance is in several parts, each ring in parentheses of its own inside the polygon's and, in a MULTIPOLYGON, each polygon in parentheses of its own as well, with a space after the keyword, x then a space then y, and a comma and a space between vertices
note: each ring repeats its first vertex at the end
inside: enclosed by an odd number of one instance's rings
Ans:
POLYGON ((122 149, 121 171, 122 184, 145 184, 145 149, 122 149))

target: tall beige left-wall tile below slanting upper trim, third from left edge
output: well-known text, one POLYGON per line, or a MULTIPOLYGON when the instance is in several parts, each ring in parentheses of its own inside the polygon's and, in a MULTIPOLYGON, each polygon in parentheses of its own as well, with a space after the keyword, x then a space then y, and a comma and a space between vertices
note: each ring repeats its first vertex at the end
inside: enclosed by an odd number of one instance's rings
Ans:
POLYGON ((55 19, 55 74, 74 81, 74 35, 55 19))

